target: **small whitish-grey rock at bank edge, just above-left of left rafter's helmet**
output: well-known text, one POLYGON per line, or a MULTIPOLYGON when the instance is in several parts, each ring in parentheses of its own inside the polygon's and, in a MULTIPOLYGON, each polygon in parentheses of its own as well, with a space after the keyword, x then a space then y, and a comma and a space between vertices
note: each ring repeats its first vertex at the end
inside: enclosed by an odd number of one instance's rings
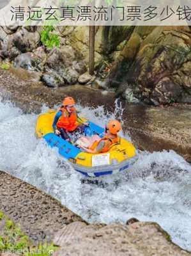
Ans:
POLYGON ((53 72, 47 72, 43 74, 41 79, 43 83, 45 83, 45 85, 48 87, 58 87, 65 84, 65 81, 63 81, 60 76, 53 72))

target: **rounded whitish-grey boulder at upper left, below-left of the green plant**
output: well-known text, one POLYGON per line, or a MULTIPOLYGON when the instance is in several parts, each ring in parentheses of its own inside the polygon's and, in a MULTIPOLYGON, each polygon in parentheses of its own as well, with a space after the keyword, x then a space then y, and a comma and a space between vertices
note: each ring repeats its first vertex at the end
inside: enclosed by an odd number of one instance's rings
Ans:
POLYGON ((29 71, 42 70, 40 58, 38 58, 33 52, 26 52, 17 56, 14 61, 14 67, 25 68, 29 71))

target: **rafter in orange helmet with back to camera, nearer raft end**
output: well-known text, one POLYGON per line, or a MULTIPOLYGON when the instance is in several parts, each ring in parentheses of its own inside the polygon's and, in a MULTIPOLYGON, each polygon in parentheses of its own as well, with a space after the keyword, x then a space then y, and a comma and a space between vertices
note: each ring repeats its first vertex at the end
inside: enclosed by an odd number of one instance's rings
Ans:
POLYGON ((98 135, 92 137, 82 137, 77 141, 79 147, 91 154, 105 153, 115 143, 119 142, 118 132, 121 124, 118 120, 111 120, 105 129, 105 136, 100 138, 98 135))

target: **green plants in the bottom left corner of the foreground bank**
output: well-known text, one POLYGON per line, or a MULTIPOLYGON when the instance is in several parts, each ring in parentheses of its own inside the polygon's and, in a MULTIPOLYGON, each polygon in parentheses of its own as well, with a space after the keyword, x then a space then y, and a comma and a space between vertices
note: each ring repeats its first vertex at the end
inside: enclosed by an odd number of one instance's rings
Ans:
POLYGON ((33 246, 32 241, 0 211, 0 253, 15 252, 24 256, 50 256, 57 250, 54 244, 40 244, 33 246))

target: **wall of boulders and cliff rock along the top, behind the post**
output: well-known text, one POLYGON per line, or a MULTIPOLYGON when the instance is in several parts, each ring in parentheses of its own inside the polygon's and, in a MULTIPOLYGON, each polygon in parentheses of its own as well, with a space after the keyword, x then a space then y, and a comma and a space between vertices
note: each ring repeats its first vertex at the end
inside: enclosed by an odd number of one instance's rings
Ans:
POLYGON ((96 76, 127 100, 133 95, 154 105, 191 102, 188 26, 96 27, 93 77, 87 72, 88 29, 1 26, 0 59, 35 72, 36 80, 50 88, 95 84, 96 76), (59 47, 45 46, 43 33, 53 33, 59 47))

